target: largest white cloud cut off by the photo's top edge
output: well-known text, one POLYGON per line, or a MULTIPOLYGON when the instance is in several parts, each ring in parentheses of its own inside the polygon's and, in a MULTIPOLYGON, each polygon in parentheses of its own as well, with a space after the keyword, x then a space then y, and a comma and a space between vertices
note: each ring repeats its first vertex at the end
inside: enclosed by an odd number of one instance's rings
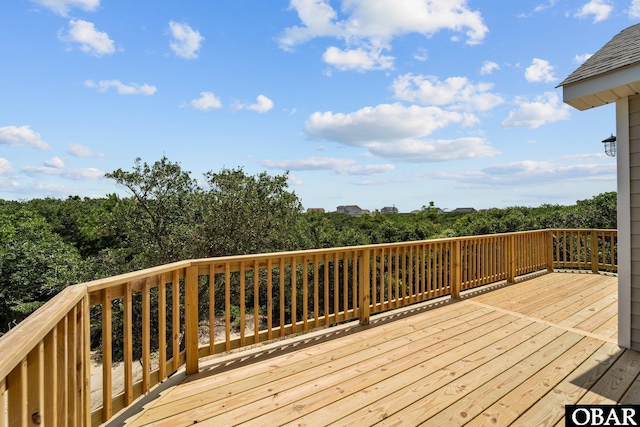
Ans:
POLYGON ((450 30, 464 33, 467 44, 480 43, 487 26, 466 0, 345 0, 340 19, 329 0, 291 0, 301 25, 286 28, 278 39, 280 48, 295 46, 316 37, 344 40, 345 49, 327 49, 324 59, 340 70, 388 69, 393 57, 382 55, 394 37, 419 33, 425 37, 450 30))

